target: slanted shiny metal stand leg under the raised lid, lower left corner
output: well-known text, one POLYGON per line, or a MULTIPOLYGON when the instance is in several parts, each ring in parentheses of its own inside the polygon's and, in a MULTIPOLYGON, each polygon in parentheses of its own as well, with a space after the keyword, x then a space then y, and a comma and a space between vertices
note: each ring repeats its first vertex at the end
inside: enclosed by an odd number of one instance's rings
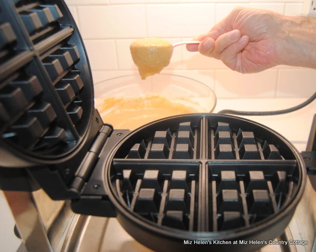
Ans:
POLYGON ((30 252, 53 252, 33 194, 5 191, 4 195, 27 250, 30 252))

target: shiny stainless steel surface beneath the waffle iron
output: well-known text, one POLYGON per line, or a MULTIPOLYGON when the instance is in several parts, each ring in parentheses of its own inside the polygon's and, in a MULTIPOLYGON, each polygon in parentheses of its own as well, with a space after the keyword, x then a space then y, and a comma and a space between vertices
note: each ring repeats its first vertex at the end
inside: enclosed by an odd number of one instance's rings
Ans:
MULTIPOLYGON (((18 252, 153 252, 135 241, 116 218, 75 214, 70 202, 53 202, 41 190, 4 194, 25 242, 18 252)), ((260 252, 315 252, 315 235, 316 192, 308 180, 291 222, 276 240, 309 244, 267 245, 260 252)))

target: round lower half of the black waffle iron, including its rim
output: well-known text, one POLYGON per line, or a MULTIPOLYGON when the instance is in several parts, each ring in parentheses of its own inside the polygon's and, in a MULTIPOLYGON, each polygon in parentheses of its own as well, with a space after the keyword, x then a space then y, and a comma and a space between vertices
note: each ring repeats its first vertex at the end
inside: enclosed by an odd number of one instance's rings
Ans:
POLYGON ((271 129, 231 116, 183 115, 130 133, 110 155, 106 176, 115 206, 128 216, 118 219, 149 248, 191 251, 184 241, 203 240, 207 246, 196 249, 227 241, 232 246, 217 250, 252 251, 288 224, 303 193, 302 167, 295 148, 271 129))

